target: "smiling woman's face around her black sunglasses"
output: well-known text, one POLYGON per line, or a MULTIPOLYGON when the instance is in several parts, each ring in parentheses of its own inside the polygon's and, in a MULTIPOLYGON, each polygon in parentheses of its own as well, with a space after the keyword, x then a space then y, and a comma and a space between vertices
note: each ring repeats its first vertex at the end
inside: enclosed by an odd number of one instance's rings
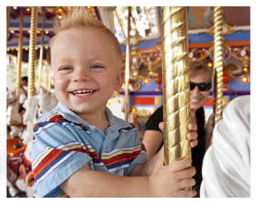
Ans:
MULTIPOLYGON (((210 82, 208 79, 208 73, 203 70, 195 78, 191 79, 190 82, 194 82, 196 84, 210 82)), ((191 111, 196 112, 198 108, 201 108, 201 106, 203 106, 203 103, 205 103, 208 99, 209 92, 210 90, 199 91, 198 86, 196 86, 193 91, 190 91, 191 111)))

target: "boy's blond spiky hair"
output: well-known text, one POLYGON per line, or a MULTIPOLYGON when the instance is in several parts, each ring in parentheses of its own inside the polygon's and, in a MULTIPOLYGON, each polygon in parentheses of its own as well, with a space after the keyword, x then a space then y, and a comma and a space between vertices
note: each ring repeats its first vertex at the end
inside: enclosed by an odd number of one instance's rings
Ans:
POLYGON ((107 33, 113 41, 113 45, 117 50, 117 58, 120 58, 122 66, 122 50, 114 33, 112 33, 112 31, 103 23, 93 18, 83 6, 75 8, 71 13, 68 14, 68 16, 63 18, 63 23, 59 23, 58 20, 55 19, 55 22, 53 23, 54 36, 50 39, 50 48, 52 49, 54 41, 58 37, 59 33, 75 28, 96 28, 107 33))

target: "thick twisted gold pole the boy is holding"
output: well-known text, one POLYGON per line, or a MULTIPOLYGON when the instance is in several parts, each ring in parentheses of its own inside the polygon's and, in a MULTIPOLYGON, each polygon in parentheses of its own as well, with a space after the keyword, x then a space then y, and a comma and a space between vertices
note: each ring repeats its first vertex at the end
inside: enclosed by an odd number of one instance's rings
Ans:
MULTIPOLYGON (((161 7, 164 103, 164 164, 191 158, 188 25, 186 7, 161 7)), ((188 187, 186 190, 191 190, 188 187)))

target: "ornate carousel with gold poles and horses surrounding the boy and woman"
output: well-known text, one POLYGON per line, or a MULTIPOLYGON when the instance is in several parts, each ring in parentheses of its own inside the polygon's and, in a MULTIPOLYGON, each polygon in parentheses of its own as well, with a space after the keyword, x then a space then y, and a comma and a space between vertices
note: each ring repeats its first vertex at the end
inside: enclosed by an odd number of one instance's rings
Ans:
MULTIPOLYGON (((7 7, 8 197, 33 196, 34 176, 31 168, 33 125, 37 118, 51 111, 58 103, 53 86, 49 47, 50 38, 53 37, 53 21, 62 23, 63 17, 74 8, 73 6, 7 7), (26 93, 21 85, 21 78, 24 76, 28 78, 26 93), (23 102, 21 102, 21 94, 26 95, 23 102)), ((178 138, 181 140, 176 144, 167 140, 170 139, 170 135, 178 135, 172 133, 172 130, 178 130, 190 121, 187 64, 201 61, 213 72, 213 86, 208 100, 203 104, 205 123, 208 122, 211 113, 216 113, 214 119, 216 128, 210 151, 222 150, 222 147, 227 146, 225 144, 221 146, 220 142, 223 137, 221 136, 223 130, 218 124, 220 117, 235 118, 234 111, 250 113, 250 7, 85 6, 85 8, 94 18, 112 30, 122 48, 124 84, 120 91, 113 92, 107 103, 114 116, 133 123, 142 140, 146 121, 163 105, 165 127, 172 128, 164 130, 165 164, 171 164, 181 157, 191 157, 188 140, 178 138), (233 99, 238 100, 237 104, 229 105, 233 99), (223 114, 226 107, 227 110, 223 114)), ((238 125, 244 121, 240 117, 236 120, 238 125)), ((231 122, 230 120, 232 128, 234 123, 231 122)), ((240 128, 242 127, 241 125, 240 128)), ((250 147, 250 126, 248 134, 250 147)), ((247 146, 233 145, 233 147, 238 147, 235 150, 240 150, 240 147, 247 146)), ((231 156, 235 150, 232 150, 231 156)), ((222 155, 220 153, 218 155, 218 159, 221 159, 222 155)), ((225 187, 228 185, 222 186, 221 179, 225 179, 228 170, 221 166, 220 160, 213 162, 211 159, 215 158, 214 154, 208 152, 207 159, 203 162, 201 197, 248 197, 248 195, 250 197, 250 154, 248 155, 249 157, 246 160, 243 158, 244 162, 241 162, 245 164, 244 167, 235 166, 246 171, 245 174, 240 175, 241 181, 245 181, 241 185, 244 191, 236 191, 238 195, 235 195, 234 191, 227 191, 225 187), (220 166, 216 166, 218 163, 220 166), (222 178, 218 175, 213 177, 206 172, 209 169, 215 172, 222 170, 222 178)), ((230 178, 227 178, 227 181, 231 183, 230 178)), ((233 188, 229 187, 229 189, 233 188)), ((237 188, 233 190, 235 189, 237 188)))

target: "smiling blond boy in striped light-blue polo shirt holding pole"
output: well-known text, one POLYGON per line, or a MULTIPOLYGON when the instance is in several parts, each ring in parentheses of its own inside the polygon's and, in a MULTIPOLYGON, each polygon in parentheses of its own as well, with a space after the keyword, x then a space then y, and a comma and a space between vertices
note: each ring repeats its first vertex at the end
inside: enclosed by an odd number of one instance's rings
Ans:
MULTIPOLYGON (((163 149, 149 159, 136 128, 106 107, 124 81, 114 34, 84 7, 57 24, 55 34, 50 47, 59 103, 34 125, 35 197, 195 196, 184 190, 195 184, 191 159, 163 166, 163 149)), ((197 145, 196 132, 187 137, 197 145)))

